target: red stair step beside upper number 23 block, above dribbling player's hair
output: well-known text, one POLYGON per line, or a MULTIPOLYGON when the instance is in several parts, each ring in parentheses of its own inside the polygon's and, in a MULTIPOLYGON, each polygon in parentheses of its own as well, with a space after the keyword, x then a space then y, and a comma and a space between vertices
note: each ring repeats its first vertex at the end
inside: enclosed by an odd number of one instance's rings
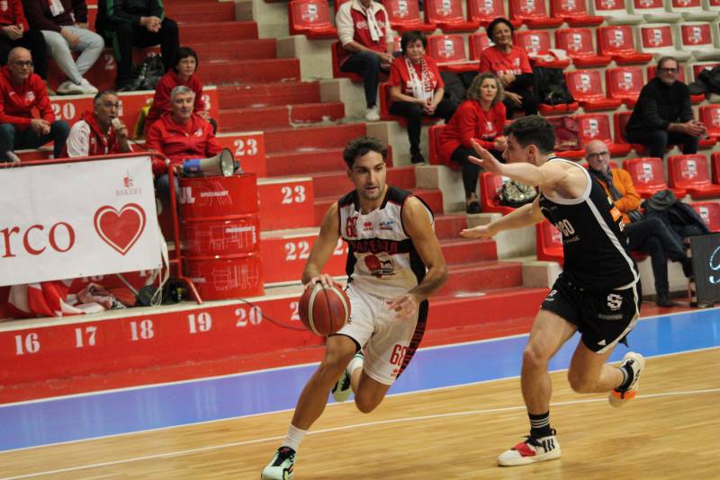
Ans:
POLYGON ((365 123, 266 129, 266 152, 273 154, 303 148, 343 148, 348 140, 361 135, 365 135, 365 123))

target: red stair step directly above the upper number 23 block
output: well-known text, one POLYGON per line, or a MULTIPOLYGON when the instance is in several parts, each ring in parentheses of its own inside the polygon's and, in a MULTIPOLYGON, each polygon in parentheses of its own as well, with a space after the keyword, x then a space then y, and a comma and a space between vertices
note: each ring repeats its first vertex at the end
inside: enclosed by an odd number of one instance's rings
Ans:
POLYGON ((228 130, 252 130, 268 127, 285 127, 295 123, 318 123, 323 120, 340 120, 345 117, 343 102, 299 103, 220 109, 220 125, 228 130))

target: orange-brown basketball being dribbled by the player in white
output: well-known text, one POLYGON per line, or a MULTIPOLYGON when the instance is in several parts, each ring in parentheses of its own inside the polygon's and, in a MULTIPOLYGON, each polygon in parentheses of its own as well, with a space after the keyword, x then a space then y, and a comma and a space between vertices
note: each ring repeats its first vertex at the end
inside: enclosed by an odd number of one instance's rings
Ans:
POLYGON ((298 313, 308 330, 316 335, 328 336, 347 324, 350 299, 343 289, 325 288, 318 282, 302 292, 298 313))

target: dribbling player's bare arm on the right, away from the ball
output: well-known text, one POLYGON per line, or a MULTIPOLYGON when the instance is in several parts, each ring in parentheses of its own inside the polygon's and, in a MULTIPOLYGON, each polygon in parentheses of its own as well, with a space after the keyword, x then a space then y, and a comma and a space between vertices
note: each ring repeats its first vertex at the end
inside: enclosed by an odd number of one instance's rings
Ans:
POLYGON ((394 298, 389 307, 400 318, 416 315, 418 304, 430 297, 447 280, 447 266, 435 230, 430 222, 428 209, 420 200, 410 197, 402 206, 402 226, 412 239, 415 250, 425 263, 428 271, 425 278, 414 289, 398 298, 394 298))

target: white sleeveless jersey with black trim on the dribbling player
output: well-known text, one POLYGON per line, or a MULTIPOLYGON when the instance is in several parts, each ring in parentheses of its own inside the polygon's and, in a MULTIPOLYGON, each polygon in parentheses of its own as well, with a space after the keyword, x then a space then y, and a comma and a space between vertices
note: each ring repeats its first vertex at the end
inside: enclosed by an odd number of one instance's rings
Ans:
MULTIPOLYGON (((338 200, 340 236, 349 247, 347 277, 354 288, 396 298, 425 277, 428 269, 402 225, 402 206, 410 196, 410 191, 388 187, 380 208, 367 214, 360 211, 356 191, 338 200)), ((428 209, 432 223, 432 210, 420 202, 428 209)))

